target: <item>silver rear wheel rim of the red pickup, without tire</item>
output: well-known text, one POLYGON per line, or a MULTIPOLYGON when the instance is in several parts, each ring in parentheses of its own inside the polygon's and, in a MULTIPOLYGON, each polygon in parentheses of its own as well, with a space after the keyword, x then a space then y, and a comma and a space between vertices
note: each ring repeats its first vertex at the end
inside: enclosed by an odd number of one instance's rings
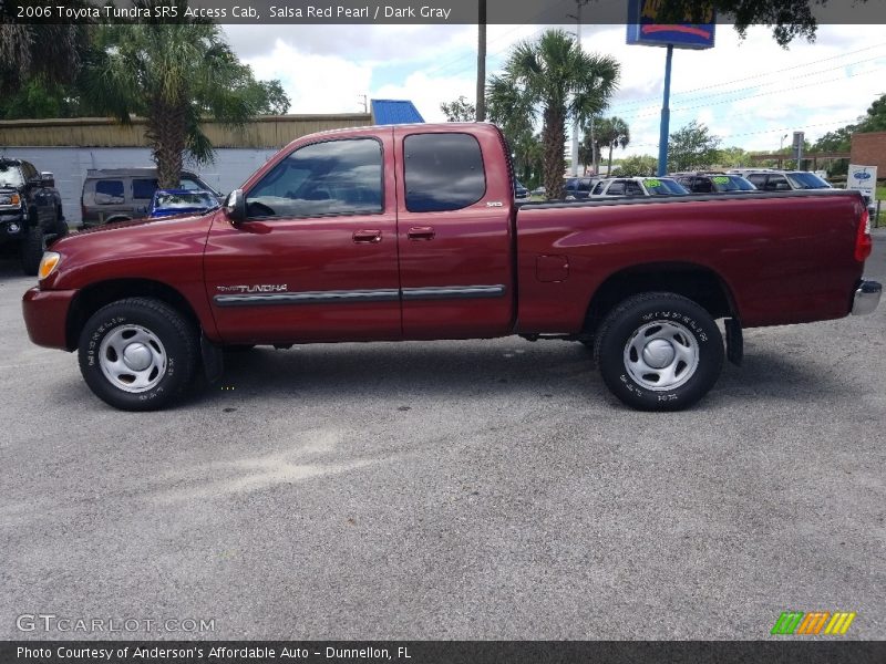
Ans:
POLYGON ((674 321, 638 328, 625 344, 625 369, 636 383, 653 392, 684 384, 699 365, 696 335, 674 321))

